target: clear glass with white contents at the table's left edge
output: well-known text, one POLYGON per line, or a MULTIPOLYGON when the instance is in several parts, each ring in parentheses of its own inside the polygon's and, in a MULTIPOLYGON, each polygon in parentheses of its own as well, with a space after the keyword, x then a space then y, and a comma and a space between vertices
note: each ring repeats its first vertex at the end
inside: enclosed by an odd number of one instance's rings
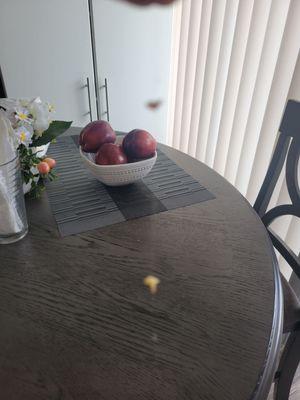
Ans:
POLYGON ((0 165, 0 244, 13 243, 28 232, 19 157, 0 165))

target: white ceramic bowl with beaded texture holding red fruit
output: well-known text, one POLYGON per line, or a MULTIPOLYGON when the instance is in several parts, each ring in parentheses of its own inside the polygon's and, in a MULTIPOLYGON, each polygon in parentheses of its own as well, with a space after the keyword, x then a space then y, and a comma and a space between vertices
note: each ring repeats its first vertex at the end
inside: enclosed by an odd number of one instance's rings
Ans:
POLYGON ((91 173, 107 186, 124 186, 136 182, 149 174, 157 159, 157 152, 151 158, 128 164, 98 165, 96 154, 85 153, 79 148, 82 161, 91 173))

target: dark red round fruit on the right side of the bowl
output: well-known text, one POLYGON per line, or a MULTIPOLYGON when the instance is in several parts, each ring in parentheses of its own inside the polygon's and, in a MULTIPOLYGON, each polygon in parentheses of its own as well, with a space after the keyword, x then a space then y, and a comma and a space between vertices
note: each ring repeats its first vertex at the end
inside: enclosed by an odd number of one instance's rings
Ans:
POLYGON ((130 159, 149 158, 155 153, 156 140, 149 132, 134 129, 124 137, 122 146, 130 159))

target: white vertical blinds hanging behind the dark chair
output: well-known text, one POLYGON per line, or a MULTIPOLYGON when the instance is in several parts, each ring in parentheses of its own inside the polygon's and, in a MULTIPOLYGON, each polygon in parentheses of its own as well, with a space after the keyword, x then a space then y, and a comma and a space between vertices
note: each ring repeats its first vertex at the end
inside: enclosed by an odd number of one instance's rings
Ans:
MULTIPOLYGON (((174 6, 168 144, 214 168, 252 204, 286 101, 295 96, 299 21, 300 0, 181 0, 174 6)), ((282 173, 272 204, 283 202, 290 200, 282 173)), ((272 227, 299 252, 298 220, 284 217, 272 227)))

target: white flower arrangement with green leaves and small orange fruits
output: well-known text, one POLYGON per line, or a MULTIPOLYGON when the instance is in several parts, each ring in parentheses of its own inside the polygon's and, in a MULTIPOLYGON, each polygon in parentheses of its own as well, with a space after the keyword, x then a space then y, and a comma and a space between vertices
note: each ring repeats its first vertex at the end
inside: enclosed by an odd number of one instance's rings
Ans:
POLYGON ((53 120, 54 107, 37 97, 26 99, 0 99, 0 112, 10 121, 11 141, 19 153, 23 181, 30 185, 29 193, 39 197, 44 182, 39 178, 53 180, 55 161, 39 156, 37 147, 47 145, 64 133, 72 122, 53 120))

